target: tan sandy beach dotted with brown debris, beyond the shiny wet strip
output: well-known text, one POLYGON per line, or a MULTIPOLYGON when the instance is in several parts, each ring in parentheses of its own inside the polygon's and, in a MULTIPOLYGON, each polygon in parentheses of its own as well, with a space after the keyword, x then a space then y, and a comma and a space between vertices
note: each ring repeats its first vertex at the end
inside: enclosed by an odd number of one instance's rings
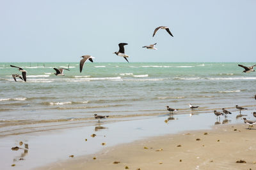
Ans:
POLYGON ((256 127, 246 128, 223 124, 141 139, 36 169, 255 169, 256 127))

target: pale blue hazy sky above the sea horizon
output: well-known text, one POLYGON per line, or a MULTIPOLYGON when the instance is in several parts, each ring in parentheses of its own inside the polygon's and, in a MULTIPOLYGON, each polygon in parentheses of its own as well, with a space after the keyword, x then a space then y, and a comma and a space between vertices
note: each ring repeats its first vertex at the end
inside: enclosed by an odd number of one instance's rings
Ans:
POLYGON ((0 62, 126 62, 118 43, 130 62, 256 62, 255 9, 255 0, 0 0, 0 62), (173 37, 152 37, 162 25, 173 37))

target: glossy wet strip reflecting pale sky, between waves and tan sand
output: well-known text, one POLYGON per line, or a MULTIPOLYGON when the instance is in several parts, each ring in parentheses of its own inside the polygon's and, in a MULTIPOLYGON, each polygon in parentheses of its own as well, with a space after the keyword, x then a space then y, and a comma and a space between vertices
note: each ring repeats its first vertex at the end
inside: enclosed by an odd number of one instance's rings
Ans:
MULTIPOLYGON (((246 118, 253 120, 250 111, 244 111, 246 118)), ((100 123, 93 122, 90 126, 80 125, 72 129, 58 129, 56 131, 40 131, 29 134, 18 134, 1 138, 0 164, 4 169, 12 169, 12 164, 18 169, 34 169, 45 166, 52 162, 72 159, 69 156, 79 157, 100 152, 102 149, 107 153, 110 146, 122 143, 130 143, 138 139, 152 136, 174 134, 177 132, 211 129, 213 125, 242 123, 242 118, 236 118, 238 112, 221 117, 220 120, 212 113, 197 114, 174 114, 156 117, 141 117, 138 120, 127 118, 122 122, 108 123, 102 120, 100 123), (168 120, 168 121, 166 121, 168 120), (92 138, 92 134, 96 134, 92 138), (24 144, 28 144, 25 152, 24 144), (105 143, 103 146, 102 143, 105 143), (12 147, 19 146, 22 149, 14 151, 12 147)), ((244 128, 248 125, 244 124, 244 128)), ((250 131, 250 130, 248 130, 250 131)), ((160 147, 160 146, 159 146, 160 147)), ((161 146, 164 147, 164 146, 161 146)), ((100 154, 102 154, 100 153, 100 154)), ((97 155, 92 155, 93 157, 97 155)), ((92 159, 91 158, 91 159, 92 159)))

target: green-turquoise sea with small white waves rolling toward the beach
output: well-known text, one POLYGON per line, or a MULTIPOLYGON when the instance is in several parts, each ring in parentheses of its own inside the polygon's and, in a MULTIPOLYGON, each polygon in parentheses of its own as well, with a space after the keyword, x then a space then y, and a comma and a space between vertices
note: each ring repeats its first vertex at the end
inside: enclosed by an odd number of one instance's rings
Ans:
POLYGON ((166 114, 166 106, 186 114, 189 103, 196 113, 253 110, 256 73, 242 71, 237 63, 86 62, 82 73, 79 62, 0 63, 0 136, 90 124, 94 113, 106 121, 166 114), (13 80, 20 72, 10 64, 27 71, 26 82, 13 80))

